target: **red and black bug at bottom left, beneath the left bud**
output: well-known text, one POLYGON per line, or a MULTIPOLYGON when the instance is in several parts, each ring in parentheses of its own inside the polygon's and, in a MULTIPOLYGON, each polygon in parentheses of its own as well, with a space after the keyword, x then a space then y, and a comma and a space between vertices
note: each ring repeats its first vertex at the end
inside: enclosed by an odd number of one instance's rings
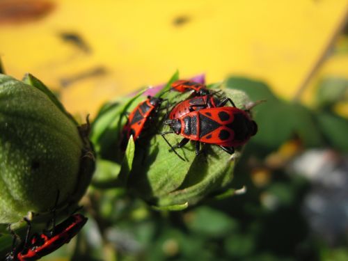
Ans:
MULTIPOLYGON (((26 220, 26 219, 25 219, 26 220)), ((19 260, 38 260, 49 253, 56 251, 58 248, 70 242, 72 237, 77 235, 85 225, 87 218, 81 214, 73 214, 62 223, 54 226, 52 230, 33 234, 30 239, 31 224, 28 220, 28 230, 24 242, 15 247, 8 253, 6 261, 19 260)), ((15 244, 15 239, 14 239, 15 244)))

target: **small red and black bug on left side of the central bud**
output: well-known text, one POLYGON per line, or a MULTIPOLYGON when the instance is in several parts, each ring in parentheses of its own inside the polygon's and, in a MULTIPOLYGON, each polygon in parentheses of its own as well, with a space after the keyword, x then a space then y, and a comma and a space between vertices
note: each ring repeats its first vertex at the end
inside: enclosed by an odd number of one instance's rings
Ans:
MULTIPOLYGON (((131 135, 134 141, 139 139, 143 129, 148 127, 149 122, 155 117, 161 107, 161 104, 167 100, 160 97, 148 96, 148 99, 139 103, 131 113, 129 113, 127 122, 122 129, 121 148, 125 150, 131 135)), ((168 109, 167 109, 168 110, 168 109)))

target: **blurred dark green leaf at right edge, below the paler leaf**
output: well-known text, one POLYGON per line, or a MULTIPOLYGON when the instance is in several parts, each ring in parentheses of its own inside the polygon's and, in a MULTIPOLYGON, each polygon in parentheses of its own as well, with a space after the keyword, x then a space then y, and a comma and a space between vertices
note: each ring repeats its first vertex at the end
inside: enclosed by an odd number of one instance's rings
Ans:
POLYGON ((332 148, 348 152, 348 120, 327 111, 316 114, 319 129, 332 148))

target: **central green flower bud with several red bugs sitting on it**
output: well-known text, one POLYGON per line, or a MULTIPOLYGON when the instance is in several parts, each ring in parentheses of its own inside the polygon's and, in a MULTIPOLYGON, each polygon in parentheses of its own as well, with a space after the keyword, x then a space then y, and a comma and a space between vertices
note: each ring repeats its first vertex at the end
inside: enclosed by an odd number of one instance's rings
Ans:
MULTIPOLYGON (((216 88, 216 86, 214 86, 216 88)), ((230 97, 239 109, 245 109, 250 100, 245 93, 239 90, 223 88, 223 95, 230 97)), ((176 104, 186 99, 187 93, 176 92, 165 93, 162 98, 168 99, 170 104, 176 104)), ((109 104, 104 106, 97 120, 94 122, 92 139, 98 148, 98 153, 104 159, 116 159, 116 151, 119 152, 118 144, 121 139, 120 132, 125 120, 122 120, 124 111, 132 109, 145 100, 145 97, 137 97, 129 104, 117 106, 109 104), (111 116, 113 118, 111 119, 111 116), (111 132, 113 136, 111 136, 111 132), (111 150, 111 147, 113 150, 111 150), (109 152, 113 151, 111 155, 109 152)), ((236 152, 231 159, 231 155, 223 151, 219 146, 213 144, 203 145, 204 152, 200 155, 195 153, 195 143, 189 142, 183 148, 177 148, 177 153, 184 157, 182 161, 175 153, 169 151, 168 144, 161 137, 161 132, 170 130, 168 126, 161 124, 166 111, 161 110, 157 121, 150 125, 150 129, 144 129, 145 135, 136 141, 132 169, 129 170, 127 178, 124 176, 120 181, 118 175, 113 175, 114 182, 106 179, 106 171, 100 168, 95 176, 97 186, 102 187, 100 180, 107 184, 127 188, 129 193, 139 196, 150 205, 157 209, 180 210, 188 205, 194 205, 204 198, 219 196, 229 192, 233 178, 235 162, 241 154, 242 147, 236 148, 236 152), (100 178, 100 180, 98 180, 100 178)), ((125 118, 125 117, 123 117, 125 118)), ((182 140, 182 136, 170 134, 166 136, 168 141, 175 145, 182 140)), ((129 158, 129 155, 127 155, 129 158)), ((116 159, 117 161, 118 159, 116 159)), ((120 164, 121 161, 118 161, 120 164)), ((103 165, 106 166, 105 161, 103 165)), ((117 162, 113 162, 117 165, 117 162)), ((111 166, 108 165, 107 171, 111 174, 111 166)), ((97 167, 98 169, 99 167, 97 167)), ((116 169, 116 166, 114 167, 116 169)), ((105 168, 106 170, 106 168, 105 168)))

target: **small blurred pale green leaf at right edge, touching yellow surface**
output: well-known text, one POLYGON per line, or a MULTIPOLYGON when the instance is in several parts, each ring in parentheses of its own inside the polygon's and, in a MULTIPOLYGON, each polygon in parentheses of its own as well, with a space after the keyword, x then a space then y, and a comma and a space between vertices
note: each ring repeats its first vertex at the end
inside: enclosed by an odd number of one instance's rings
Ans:
POLYGON ((330 77, 320 82, 316 94, 319 108, 333 106, 342 100, 348 100, 348 79, 330 77))

